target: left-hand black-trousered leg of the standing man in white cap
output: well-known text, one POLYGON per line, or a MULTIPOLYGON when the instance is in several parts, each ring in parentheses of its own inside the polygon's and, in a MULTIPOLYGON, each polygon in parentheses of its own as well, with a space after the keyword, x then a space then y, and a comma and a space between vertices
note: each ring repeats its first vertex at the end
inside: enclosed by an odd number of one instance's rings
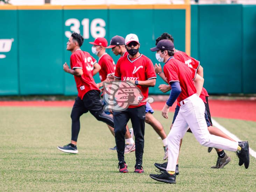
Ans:
POLYGON ((130 119, 128 109, 121 112, 113 112, 115 122, 115 143, 116 151, 118 154, 118 167, 122 173, 128 172, 127 165, 125 162, 125 133, 126 125, 130 119))

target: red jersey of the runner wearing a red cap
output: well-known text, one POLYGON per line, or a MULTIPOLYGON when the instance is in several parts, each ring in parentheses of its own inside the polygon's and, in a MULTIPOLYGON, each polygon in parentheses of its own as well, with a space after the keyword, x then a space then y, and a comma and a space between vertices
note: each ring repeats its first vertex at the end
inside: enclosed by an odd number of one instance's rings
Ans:
POLYGON ((107 53, 99 58, 99 65, 101 66, 99 71, 101 81, 104 81, 108 75, 115 73, 115 62, 107 53))

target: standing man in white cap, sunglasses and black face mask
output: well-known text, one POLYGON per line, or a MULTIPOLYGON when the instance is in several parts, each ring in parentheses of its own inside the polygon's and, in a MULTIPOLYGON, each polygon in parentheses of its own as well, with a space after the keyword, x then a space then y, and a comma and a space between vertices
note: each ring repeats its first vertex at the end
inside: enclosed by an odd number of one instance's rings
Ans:
MULTIPOLYGON (((125 48, 127 56, 120 58, 116 64, 114 81, 130 81, 140 89, 142 102, 138 105, 129 105, 122 111, 114 111, 115 141, 118 152, 119 171, 128 172, 124 157, 126 125, 131 119, 135 136, 135 171, 144 172, 142 167, 142 156, 144 150, 144 131, 145 131, 145 105, 143 102, 148 97, 148 87, 156 84, 156 73, 151 60, 139 52, 140 43, 137 35, 129 34, 125 38, 125 48)), ((136 98, 138 99, 138 98, 136 98)))

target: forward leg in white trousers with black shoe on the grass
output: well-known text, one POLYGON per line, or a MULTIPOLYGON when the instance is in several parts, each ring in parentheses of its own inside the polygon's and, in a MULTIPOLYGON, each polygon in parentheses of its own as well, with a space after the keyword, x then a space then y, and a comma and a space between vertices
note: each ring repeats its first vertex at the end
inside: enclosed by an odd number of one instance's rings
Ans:
POLYGON ((186 121, 183 119, 182 114, 178 114, 172 129, 168 134, 168 164, 166 171, 159 175, 150 174, 152 179, 166 182, 176 183, 176 162, 179 155, 180 140, 185 135, 188 129, 186 121))

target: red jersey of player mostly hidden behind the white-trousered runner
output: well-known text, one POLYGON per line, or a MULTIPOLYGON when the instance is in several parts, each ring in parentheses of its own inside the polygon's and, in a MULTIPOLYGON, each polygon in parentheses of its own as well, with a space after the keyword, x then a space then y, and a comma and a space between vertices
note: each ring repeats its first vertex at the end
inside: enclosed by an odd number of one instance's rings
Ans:
MULTIPOLYGON (((188 56, 185 52, 183 51, 178 51, 176 50, 174 52, 174 56, 175 59, 181 61, 182 63, 185 63, 188 67, 190 67, 191 69, 195 69, 198 70, 199 66, 200 66, 200 62, 197 61, 197 59, 194 59, 193 57, 188 56)), ((206 89, 203 88, 202 92, 200 94, 200 98, 206 103, 206 99, 205 99, 205 91, 206 89)), ((207 93, 207 92, 206 92, 207 93)), ((207 93, 208 95, 208 93, 207 93)))

